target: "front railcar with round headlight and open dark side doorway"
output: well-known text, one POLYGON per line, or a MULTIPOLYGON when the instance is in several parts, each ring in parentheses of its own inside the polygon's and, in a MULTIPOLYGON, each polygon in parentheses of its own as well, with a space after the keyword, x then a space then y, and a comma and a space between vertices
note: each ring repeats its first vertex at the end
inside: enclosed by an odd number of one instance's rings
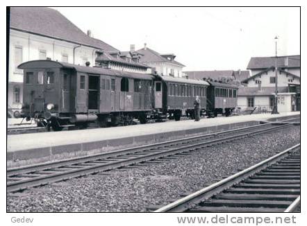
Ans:
POLYGON ((22 116, 53 130, 146 123, 153 108, 154 76, 33 60, 24 69, 22 116))

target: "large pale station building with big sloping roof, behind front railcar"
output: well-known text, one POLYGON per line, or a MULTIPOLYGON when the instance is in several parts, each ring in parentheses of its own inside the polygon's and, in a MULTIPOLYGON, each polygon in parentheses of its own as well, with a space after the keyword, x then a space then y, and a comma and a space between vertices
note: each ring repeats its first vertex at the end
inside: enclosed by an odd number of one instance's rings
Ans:
POLYGON ((10 7, 8 109, 18 114, 22 107, 23 71, 29 60, 56 60, 92 67, 147 73, 145 64, 125 58, 110 44, 83 33, 57 10, 46 7, 10 7))

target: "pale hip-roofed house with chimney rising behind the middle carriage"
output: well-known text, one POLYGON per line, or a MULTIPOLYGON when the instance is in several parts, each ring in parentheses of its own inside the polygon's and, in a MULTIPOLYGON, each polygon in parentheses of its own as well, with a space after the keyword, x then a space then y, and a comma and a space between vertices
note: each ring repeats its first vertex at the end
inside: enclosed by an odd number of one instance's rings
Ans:
POLYGON ((185 65, 174 60, 176 55, 173 53, 160 54, 149 49, 147 44, 144 44, 144 48, 135 52, 142 64, 151 67, 153 72, 158 73, 160 76, 182 77, 182 69, 185 65))

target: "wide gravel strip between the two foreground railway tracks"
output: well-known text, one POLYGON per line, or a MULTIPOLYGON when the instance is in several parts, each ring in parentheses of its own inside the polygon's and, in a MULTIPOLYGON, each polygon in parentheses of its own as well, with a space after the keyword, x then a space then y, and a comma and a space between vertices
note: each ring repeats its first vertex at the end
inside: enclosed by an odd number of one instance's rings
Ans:
POLYGON ((147 211, 300 142, 300 127, 262 134, 160 164, 115 170, 8 194, 7 211, 147 211))

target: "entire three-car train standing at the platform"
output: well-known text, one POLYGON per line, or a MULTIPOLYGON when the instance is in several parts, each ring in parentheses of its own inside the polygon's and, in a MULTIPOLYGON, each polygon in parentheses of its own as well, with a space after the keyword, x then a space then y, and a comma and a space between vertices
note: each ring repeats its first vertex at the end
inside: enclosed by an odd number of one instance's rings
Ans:
POLYGON ((85 67, 53 60, 32 60, 24 71, 21 116, 35 119, 48 130, 131 125, 135 120, 194 118, 199 96, 201 115, 229 116, 237 103, 238 87, 192 80, 85 67))

